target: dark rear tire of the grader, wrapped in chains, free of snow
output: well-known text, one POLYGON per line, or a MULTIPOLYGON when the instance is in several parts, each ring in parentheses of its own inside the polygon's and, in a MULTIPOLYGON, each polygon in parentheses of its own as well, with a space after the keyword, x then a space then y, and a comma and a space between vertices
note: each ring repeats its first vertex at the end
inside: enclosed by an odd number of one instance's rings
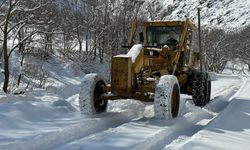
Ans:
POLYGON ((192 99, 196 106, 203 107, 210 102, 211 79, 208 73, 197 72, 193 78, 192 99))

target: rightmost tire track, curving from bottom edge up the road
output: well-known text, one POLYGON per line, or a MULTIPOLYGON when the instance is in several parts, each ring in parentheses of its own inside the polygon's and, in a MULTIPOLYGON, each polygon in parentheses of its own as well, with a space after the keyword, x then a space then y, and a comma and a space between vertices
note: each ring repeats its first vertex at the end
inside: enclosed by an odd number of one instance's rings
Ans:
MULTIPOLYGON (((218 113, 222 112, 229 105, 230 101, 243 89, 244 85, 246 84, 246 80, 242 77, 240 79, 242 82, 240 86, 233 86, 229 89, 225 88, 225 90, 220 91, 220 93, 224 94, 226 92, 226 94, 215 97, 213 99, 213 103, 208 104, 208 106, 204 108, 195 108, 202 110, 199 111, 198 114, 195 114, 195 116, 183 116, 178 118, 174 128, 167 128, 163 131, 160 131, 153 137, 147 138, 144 142, 136 145, 133 149, 154 150, 162 149, 166 145, 167 146, 165 149, 173 149, 173 145, 177 146, 178 143, 173 141, 178 140, 178 137, 192 137, 194 134, 207 126, 211 121, 215 120, 218 116, 218 113), (217 112, 211 113, 208 109, 213 108, 213 106, 216 106, 218 103, 220 103, 220 101, 227 101, 228 103, 224 103, 223 106, 220 104, 219 108, 216 110, 217 112), (173 145, 171 145, 171 143, 173 143, 173 145)), ((184 140, 187 141, 188 138, 184 140)), ((181 140, 180 142, 183 143, 184 140, 181 140)))

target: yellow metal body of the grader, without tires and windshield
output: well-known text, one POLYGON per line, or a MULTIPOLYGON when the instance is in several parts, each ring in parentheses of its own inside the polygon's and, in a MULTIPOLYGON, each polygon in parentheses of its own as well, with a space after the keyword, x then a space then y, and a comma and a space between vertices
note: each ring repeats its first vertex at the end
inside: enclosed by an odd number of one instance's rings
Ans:
POLYGON ((141 101, 153 101, 152 93, 155 91, 155 81, 160 76, 178 74, 180 85, 185 85, 190 67, 198 65, 198 55, 193 52, 193 55, 189 56, 191 34, 196 28, 188 19, 186 21, 144 22, 142 29, 143 46, 136 58, 129 55, 118 55, 112 58, 111 85, 106 87, 107 91, 112 94, 105 95, 104 99, 133 98, 141 101), (148 46, 148 27, 169 26, 182 28, 176 50, 167 46, 148 46), (154 55, 155 53, 157 54, 154 55), (180 57, 183 58, 184 55, 188 55, 185 63, 180 62, 180 57))

